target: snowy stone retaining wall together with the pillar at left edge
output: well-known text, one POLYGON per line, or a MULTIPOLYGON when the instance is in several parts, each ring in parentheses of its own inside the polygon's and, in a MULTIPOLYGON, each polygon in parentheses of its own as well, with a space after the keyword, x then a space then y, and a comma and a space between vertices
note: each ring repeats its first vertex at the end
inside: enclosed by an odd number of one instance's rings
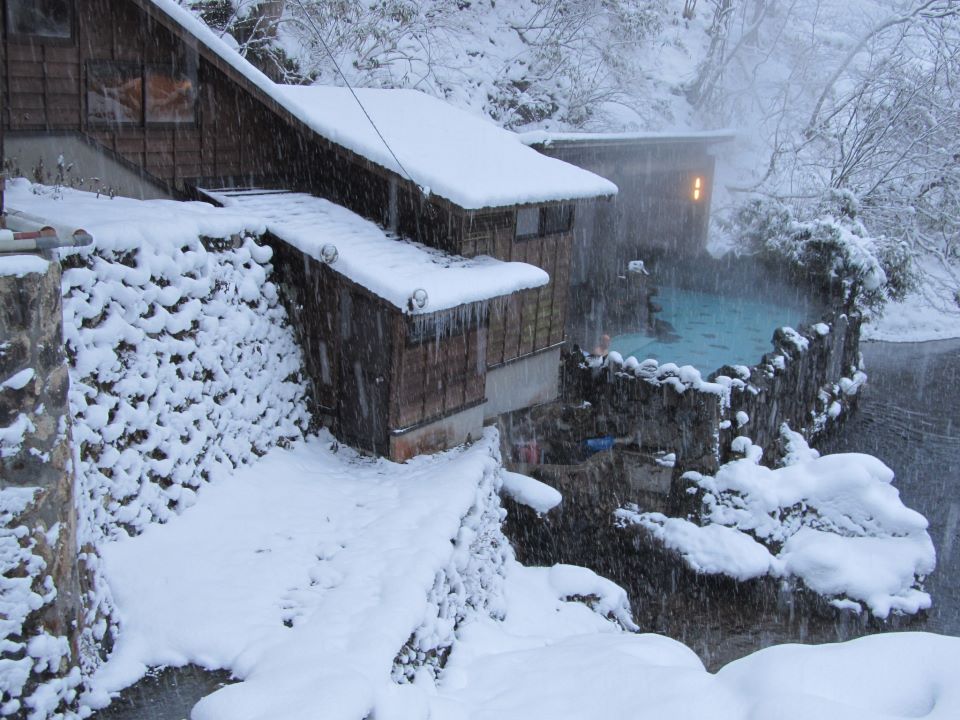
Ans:
POLYGON ((0 266, 0 716, 69 709, 109 650, 103 542, 307 427, 270 250, 130 238, 67 256, 62 278, 39 257, 0 266))

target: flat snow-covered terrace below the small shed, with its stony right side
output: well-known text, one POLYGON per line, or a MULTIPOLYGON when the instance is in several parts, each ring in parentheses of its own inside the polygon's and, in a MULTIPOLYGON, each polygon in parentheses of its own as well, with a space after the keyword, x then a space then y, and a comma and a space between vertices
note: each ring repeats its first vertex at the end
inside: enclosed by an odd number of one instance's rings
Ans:
POLYGON ((363 717, 405 644, 442 651, 458 615, 501 612, 496 448, 491 434, 396 465, 323 434, 105 544, 121 631, 87 702, 193 662, 244 679, 196 718, 363 717))

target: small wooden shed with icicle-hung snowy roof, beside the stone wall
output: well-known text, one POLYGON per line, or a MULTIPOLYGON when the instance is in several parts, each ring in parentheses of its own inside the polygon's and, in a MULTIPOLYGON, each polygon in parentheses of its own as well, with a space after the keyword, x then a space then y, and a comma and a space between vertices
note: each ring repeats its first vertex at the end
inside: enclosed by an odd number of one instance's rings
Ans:
MULTIPOLYGON (((337 437, 394 459, 479 437, 498 414, 490 409, 492 318, 547 287, 547 273, 399 239, 307 193, 209 193, 264 219, 314 412, 337 437)), ((545 375, 546 399, 557 371, 545 375)))

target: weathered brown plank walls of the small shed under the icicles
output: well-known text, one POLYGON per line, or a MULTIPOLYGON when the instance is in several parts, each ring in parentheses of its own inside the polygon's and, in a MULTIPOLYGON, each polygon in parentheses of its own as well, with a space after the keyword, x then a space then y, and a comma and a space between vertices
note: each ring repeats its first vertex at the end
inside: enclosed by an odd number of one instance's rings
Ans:
POLYGON ((417 320, 329 266, 276 238, 270 245, 304 351, 312 411, 332 421, 339 438, 387 454, 391 432, 483 402, 482 308, 424 316, 418 332, 417 320))

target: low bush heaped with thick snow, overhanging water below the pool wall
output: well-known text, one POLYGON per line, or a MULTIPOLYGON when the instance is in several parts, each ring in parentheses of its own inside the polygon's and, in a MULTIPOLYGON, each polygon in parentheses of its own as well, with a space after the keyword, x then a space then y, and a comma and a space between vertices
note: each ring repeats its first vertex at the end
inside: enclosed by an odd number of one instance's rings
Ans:
POLYGON ((936 555, 927 521, 903 505, 880 460, 857 453, 819 457, 784 427, 790 464, 757 465, 759 453, 722 466, 716 476, 687 473, 702 499, 698 522, 617 511, 649 530, 698 572, 738 580, 796 577, 840 608, 886 618, 930 607, 922 582, 936 555))

